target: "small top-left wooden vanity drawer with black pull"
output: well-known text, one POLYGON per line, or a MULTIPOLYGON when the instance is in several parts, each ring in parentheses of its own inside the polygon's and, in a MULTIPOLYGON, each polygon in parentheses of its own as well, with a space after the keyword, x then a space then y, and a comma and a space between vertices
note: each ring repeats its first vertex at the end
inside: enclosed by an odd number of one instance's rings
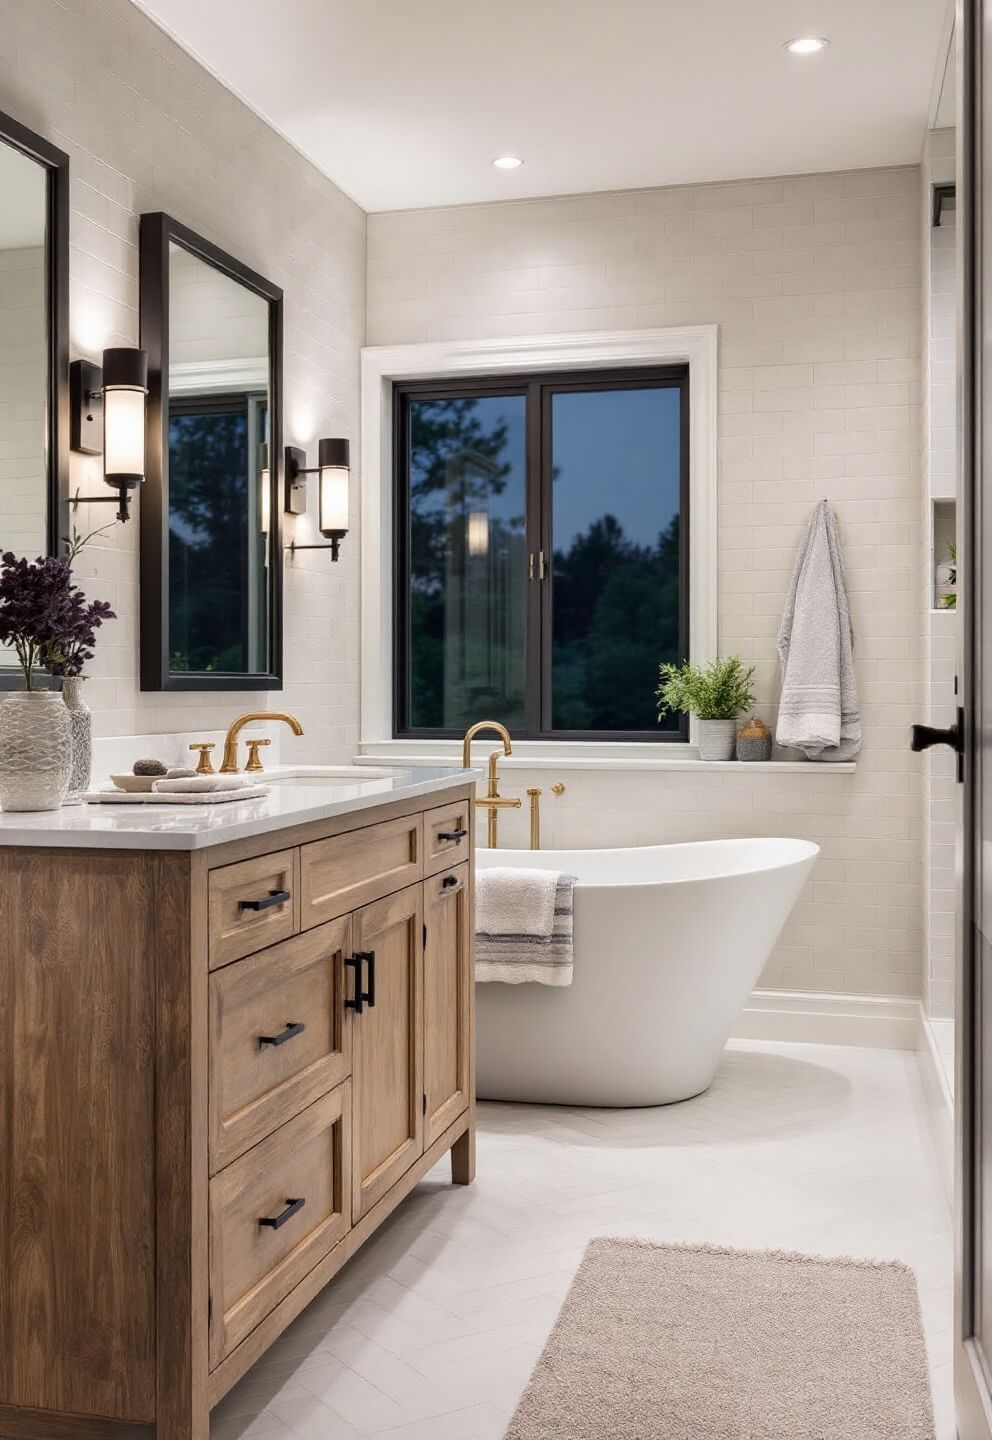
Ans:
POLYGON ((210 969, 287 940, 299 929, 299 851, 210 871, 210 969))

